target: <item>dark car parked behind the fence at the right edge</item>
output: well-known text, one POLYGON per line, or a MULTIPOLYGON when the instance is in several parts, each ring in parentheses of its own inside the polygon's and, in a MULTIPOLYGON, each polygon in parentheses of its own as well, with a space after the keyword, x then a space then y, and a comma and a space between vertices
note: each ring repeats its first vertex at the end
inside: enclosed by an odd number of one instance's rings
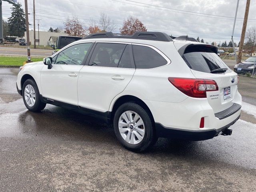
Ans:
MULTIPOLYGON (((253 72, 256 62, 256 56, 249 57, 244 62, 238 63, 234 66, 234 72, 237 74, 245 74, 253 72)), ((256 74, 256 68, 254 69, 254 74, 256 74)))

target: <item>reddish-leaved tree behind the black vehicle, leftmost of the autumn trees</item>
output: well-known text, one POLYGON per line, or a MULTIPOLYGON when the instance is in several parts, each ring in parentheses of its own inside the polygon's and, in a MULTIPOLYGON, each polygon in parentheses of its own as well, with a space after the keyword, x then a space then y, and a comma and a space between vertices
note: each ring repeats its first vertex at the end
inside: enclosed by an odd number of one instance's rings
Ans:
POLYGON ((66 22, 64 22, 66 33, 70 36, 86 36, 86 29, 83 27, 82 23, 78 18, 73 16, 72 18, 67 18, 66 22))

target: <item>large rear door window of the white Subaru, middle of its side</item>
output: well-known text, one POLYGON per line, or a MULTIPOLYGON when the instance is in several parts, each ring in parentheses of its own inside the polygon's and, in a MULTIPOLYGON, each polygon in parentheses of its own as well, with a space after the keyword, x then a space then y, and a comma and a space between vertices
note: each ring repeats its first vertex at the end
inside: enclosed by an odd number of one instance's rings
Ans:
POLYGON ((89 66, 117 67, 126 44, 97 43, 89 66))

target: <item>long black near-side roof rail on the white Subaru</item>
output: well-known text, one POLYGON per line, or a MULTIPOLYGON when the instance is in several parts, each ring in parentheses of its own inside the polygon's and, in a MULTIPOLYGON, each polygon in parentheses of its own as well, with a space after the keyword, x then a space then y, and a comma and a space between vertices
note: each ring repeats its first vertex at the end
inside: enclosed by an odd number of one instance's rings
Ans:
POLYGON ((144 40, 154 40, 154 41, 172 41, 172 38, 163 32, 147 32, 147 31, 137 31, 133 35, 116 34, 112 32, 101 32, 90 34, 82 39, 90 38, 125 38, 125 39, 144 39, 144 40))

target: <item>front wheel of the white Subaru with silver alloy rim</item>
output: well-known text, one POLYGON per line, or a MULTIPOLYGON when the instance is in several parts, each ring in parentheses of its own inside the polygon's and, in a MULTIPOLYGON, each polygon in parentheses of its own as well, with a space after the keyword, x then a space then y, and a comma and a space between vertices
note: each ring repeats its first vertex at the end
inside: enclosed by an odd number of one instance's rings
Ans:
POLYGON ((26 108, 32 112, 43 110, 46 103, 40 101, 40 94, 36 82, 27 79, 22 86, 22 97, 26 108))

